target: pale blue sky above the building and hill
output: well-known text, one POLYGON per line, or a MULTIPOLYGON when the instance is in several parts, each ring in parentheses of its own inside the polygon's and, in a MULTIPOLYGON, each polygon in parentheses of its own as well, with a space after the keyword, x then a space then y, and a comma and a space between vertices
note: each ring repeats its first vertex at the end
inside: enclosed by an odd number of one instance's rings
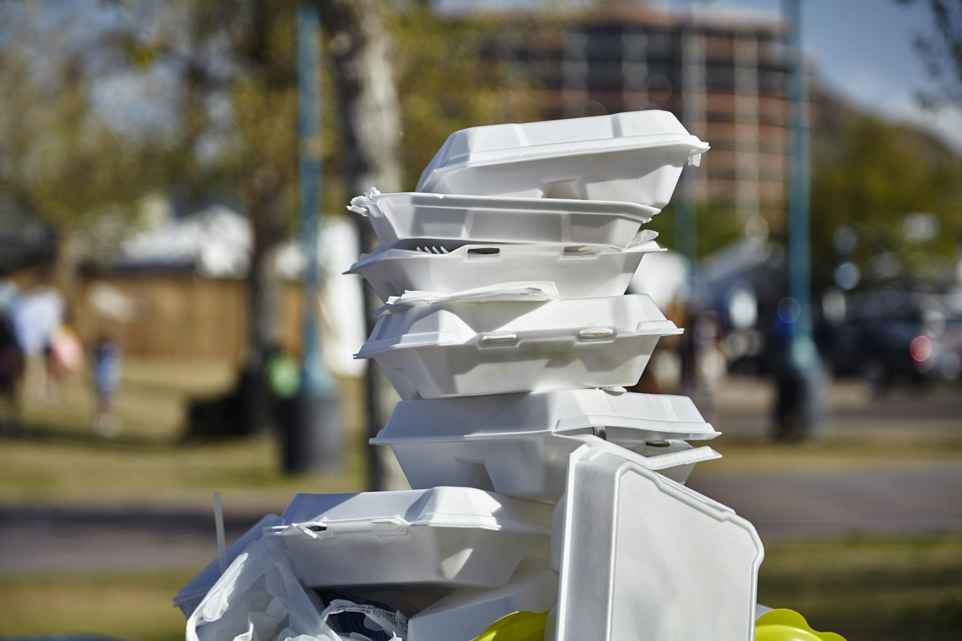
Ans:
MULTIPOLYGON (((538 6, 538 0, 440 0, 444 8, 538 6)), ((571 1, 569 4, 583 4, 571 1)), ((692 0, 660 0, 679 8, 692 0)), ((714 0, 720 8, 780 12, 780 0, 714 0)), ((804 46, 823 85, 865 111, 915 123, 962 153, 962 109, 926 111, 915 93, 926 86, 924 62, 913 46, 930 34, 933 20, 924 0, 802 0, 804 46)))

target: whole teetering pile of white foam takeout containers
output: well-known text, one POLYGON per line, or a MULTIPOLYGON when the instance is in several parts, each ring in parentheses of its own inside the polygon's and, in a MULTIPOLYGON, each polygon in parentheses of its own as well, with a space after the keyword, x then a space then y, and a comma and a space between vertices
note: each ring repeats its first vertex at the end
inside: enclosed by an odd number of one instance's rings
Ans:
MULTIPOLYGON (((665 111, 477 127, 418 192, 355 198, 380 246, 351 271, 386 303, 358 357, 403 399, 371 442, 413 489, 297 495, 223 576, 263 537, 308 588, 417 602, 405 641, 525 611, 547 613, 544 641, 750 640, 761 543, 684 485, 720 456, 689 441, 718 432, 688 398, 624 390, 681 332, 624 292, 707 149, 665 111)), ((223 612, 218 577, 175 599, 190 621, 223 612)))

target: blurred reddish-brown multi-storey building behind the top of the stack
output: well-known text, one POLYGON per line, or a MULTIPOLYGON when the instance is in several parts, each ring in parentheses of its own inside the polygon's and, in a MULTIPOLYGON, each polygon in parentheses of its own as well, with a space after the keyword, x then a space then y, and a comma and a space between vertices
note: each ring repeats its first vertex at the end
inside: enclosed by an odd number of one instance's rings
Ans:
POLYGON ((743 220, 780 220, 788 102, 778 13, 603 3, 519 22, 526 26, 502 35, 496 55, 533 72, 546 117, 673 111, 712 145, 696 199, 743 220))

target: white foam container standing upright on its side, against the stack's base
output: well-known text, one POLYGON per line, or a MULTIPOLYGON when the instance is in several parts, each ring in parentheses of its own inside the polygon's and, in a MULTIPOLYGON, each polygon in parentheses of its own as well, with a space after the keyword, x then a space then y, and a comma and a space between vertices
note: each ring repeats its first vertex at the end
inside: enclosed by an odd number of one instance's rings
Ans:
POLYGON ((644 457, 579 449, 555 508, 558 606, 544 638, 750 641, 763 557, 747 520, 644 457))

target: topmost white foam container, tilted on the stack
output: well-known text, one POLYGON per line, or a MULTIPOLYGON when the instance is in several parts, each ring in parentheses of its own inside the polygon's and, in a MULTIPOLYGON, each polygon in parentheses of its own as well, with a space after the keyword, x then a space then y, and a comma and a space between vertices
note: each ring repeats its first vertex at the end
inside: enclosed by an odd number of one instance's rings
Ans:
POLYGON ((708 145, 669 111, 471 127, 448 136, 418 191, 627 201, 661 209, 708 145))

